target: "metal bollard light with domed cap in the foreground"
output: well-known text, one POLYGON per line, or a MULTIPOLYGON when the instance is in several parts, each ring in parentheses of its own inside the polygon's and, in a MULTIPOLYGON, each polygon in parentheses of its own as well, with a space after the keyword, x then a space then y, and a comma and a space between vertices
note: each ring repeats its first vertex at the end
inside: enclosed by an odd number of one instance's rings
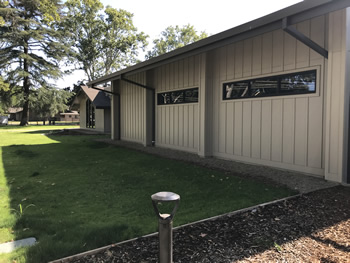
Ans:
POLYGON ((158 192, 151 196, 154 211, 158 217, 159 263, 173 263, 173 218, 179 207, 180 196, 172 192, 158 192), (161 214, 158 204, 174 202, 171 214, 161 214))

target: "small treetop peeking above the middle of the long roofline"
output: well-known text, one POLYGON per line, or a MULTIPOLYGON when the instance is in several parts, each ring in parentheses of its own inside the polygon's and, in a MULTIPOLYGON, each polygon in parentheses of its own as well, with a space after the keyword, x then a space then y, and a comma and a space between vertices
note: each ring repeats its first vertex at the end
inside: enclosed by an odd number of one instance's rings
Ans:
POLYGON ((160 38, 153 40, 153 49, 148 51, 146 59, 168 53, 206 37, 208 37, 207 33, 201 32, 198 35, 197 31, 190 24, 182 28, 169 26, 161 32, 160 38))

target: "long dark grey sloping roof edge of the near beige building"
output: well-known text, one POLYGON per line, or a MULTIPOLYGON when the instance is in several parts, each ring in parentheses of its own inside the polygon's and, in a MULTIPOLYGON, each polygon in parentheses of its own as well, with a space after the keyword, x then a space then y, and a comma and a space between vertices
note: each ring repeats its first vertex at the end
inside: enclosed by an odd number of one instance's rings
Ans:
MULTIPOLYGON (((286 19, 290 25, 295 25, 299 22, 349 6, 350 0, 304 0, 303 2, 281 9, 267 16, 199 40, 193 44, 100 77, 88 82, 87 85, 94 86, 111 80, 121 79, 122 77, 149 70, 188 56, 201 54, 263 33, 283 29, 286 19)), ((232 12, 234 14, 234 10, 232 12)))

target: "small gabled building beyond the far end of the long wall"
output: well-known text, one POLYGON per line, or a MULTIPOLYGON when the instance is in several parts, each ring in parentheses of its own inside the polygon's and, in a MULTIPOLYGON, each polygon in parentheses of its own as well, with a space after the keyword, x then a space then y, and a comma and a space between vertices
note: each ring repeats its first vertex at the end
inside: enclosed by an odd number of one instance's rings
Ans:
MULTIPOLYGON (((110 87, 99 87, 99 89, 110 90, 110 87)), ((80 128, 111 132, 111 99, 105 92, 81 86, 71 110, 79 111, 80 128)))

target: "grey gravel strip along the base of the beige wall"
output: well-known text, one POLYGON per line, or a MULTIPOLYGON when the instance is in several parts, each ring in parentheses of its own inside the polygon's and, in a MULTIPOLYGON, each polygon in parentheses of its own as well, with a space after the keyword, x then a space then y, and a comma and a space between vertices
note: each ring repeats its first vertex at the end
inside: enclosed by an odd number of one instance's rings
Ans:
POLYGON ((161 156, 163 158, 180 160, 214 170, 221 170, 235 176, 258 178, 259 180, 263 180, 268 183, 286 186, 290 189, 299 191, 299 193, 308 193, 338 185, 337 183, 326 181, 321 177, 315 177, 294 171, 276 169, 268 166, 252 165, 212 157, 202 158, 196 154, 188 152, 176 151, 160 147, 144 147, 141 144, 126 141, 115 141, 111 139, 98 139, 98 141, 118 147, 125 147, 148 154, 161 156))

